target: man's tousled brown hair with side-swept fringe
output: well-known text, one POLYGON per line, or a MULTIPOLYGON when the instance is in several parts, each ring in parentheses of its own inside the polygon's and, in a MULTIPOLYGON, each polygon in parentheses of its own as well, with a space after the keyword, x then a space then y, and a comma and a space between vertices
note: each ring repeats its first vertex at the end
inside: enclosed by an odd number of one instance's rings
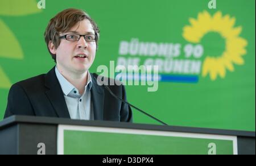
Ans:
MULTIPOLYGON (((44 32, 44 40, 46 41, 46 45, 48 48, 48 43, 52 40, 53 45, 55 48, 59 47, 60 45, 60 32, 67 32, 73 26, 75 26, 81 20, 88 19, 92 24, 93 30, 95 35, 97 36, 96 41, 96 48, 98 49, 98 39, 100 38, 100 30, 90 16, 85 13, 83 10, 79 9, 66 9, 58 13, 55 17, 53 17, 46 28, 46 32, 44 32)), ((49 51, 49 48, 48 48, 49 51)), ((49 53, 51 53, 49 51, 49 53)), ((56 63, 56 55, 52 54, 52 59, 56 63)))

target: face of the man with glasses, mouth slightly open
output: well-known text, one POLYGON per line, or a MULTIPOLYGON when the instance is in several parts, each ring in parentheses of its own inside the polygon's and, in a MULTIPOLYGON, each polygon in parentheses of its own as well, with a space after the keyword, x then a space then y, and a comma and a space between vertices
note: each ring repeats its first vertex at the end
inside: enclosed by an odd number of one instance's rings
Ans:
MULTIPOLYGON (((84 19, 72 27, 71 30, 61 33, 60 36, 67 34, 94 34, 92 24, 88 19, 84 19)), ((52 44, 49 44, 52 45, 52 44)), ((96 55, 96 42, 86 42, 81 36, 79 41, 70 42, 66 39, 61 39, 57 49, 51 49, 56 53, 57 68, 60 72, 66 71, 69 73, 85 73, 92 65, 96 55), (79 55, 86 55, 78 57, 79 55)))

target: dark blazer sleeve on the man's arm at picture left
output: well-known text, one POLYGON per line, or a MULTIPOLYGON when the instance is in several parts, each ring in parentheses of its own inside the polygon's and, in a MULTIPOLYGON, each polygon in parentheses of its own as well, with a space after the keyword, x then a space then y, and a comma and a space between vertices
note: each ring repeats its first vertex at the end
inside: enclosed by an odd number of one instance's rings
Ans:
POLYGON ((11 115, 35 115, 25 90, 18 84, 11 86, 4 118, 11 115))

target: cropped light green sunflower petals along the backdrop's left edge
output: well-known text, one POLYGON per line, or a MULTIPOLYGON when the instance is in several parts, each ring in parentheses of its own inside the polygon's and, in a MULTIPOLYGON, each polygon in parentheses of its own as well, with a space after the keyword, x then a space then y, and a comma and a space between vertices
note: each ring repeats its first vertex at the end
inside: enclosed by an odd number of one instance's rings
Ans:
MULTIPOLYGON (((37 2, 34 0, 11 0, 0 2, 0 16, 24 16, 39 13, 37 2)), ((7 58, 22 60, 24 58, 22 48, 13 31, 0 18, 0 59, 7 58)), ((4 72, 0 63, 0 88, 10 88, 11 81, 4 72)))

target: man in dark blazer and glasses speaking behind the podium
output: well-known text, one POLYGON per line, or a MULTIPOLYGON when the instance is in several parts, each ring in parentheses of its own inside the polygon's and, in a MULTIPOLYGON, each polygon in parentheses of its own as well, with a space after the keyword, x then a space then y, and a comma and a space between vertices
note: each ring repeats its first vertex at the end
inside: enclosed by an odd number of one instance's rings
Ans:
MULTIPOLYGON (((32 115, 132 122, 130 106, 97 84, 97 74, 89 73, 99 36, 97 24, 82 10, 67 9, 52 18, 44 38, 56 66, 11 87, 5 118, 32 115)), ((123 85, 109 88, 126 101, 123 85)))

